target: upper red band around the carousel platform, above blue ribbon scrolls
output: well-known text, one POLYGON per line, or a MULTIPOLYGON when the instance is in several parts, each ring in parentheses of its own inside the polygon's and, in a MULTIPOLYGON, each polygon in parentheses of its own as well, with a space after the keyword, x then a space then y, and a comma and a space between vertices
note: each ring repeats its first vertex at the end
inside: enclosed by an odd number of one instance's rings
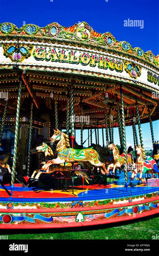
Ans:
POLYGON ((109 205, 96 205, 96 206, 88 206, 88 207, 75 207, 75 208, 54 208, 54 209, 0 209, 0 213, 60 213, 60 212, 86 212, 86 211, 97 211, 97 210, 106 210, 106 209, 114 209, 132 205, 139 205, 143 203, 149 203, 153 201, 158 201, 159 196, 152 197, 140 201, 134 202, 126 202, 119 204, 109 204, 109 205))

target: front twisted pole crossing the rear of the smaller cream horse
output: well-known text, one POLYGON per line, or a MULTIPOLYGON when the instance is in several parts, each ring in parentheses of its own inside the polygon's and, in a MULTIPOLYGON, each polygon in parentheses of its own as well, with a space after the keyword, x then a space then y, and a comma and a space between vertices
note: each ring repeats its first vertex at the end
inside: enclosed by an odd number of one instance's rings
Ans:
POLYGON ((125 170, 125 185, 128 189, 128 174, 127 174, 127 150, 126 150, 126 133, 125 133, 125 118, 124 118, 124 102, 122 94, 122 86, 120 85, 120 98, 121 98, 121 126, 123 131, 123 143, 124 143, 124 170, 125 170))

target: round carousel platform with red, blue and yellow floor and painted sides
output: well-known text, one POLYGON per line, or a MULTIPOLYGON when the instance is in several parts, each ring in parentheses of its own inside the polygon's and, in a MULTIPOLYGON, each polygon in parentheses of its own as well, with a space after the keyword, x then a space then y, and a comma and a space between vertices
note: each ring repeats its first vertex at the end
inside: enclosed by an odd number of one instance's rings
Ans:
MULTIPOLYGON (((131 173, 128 173, 130 180, 131 173)), ((159 213, 159 179, 138 177, 124 186, 124 174, 109 184, 66 189, 0 186, 0 228, 62 228, 142 218, 159 213)))

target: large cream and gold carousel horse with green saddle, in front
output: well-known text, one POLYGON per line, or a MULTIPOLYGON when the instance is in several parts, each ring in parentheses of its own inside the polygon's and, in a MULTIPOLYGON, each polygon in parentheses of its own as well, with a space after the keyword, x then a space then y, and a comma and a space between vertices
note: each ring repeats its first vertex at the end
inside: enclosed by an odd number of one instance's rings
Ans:
POLYGON ((47 161, 46 164, 42 166, 42 170, 48 170, 48 167, 51 164, 60 164, 60 163, 75 163, 75 162, 86 162, 88 166, 103 167, 101 173, 105 175, 107 169, 105 164, 100 162, 97 151, 94 149, 73 149, 70 148, 69 137, 67 134, 59 131, 58 129, 54 130, 53 136, 50 138, 50 141, 59 140, 56 146, 56 159, 47 161))

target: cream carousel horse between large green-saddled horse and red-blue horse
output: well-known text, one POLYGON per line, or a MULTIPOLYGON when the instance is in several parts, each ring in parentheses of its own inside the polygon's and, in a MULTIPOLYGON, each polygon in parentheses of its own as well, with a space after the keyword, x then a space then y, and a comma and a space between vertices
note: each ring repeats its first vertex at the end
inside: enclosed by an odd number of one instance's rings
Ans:
MULTIPOLYGON (((119 153, 118 148, 113 143, 108 145, 108 150, 113 152, 113 161, 108 165, 108 171, 110 168, 113 168, 113 174, 115 173, 115 168, 120 168, 124 165, 124 154, 119 153)), ((131 154, 127 154, 127 163, 131 164, 132 167, 135 167, 134 158, 131 154)))

